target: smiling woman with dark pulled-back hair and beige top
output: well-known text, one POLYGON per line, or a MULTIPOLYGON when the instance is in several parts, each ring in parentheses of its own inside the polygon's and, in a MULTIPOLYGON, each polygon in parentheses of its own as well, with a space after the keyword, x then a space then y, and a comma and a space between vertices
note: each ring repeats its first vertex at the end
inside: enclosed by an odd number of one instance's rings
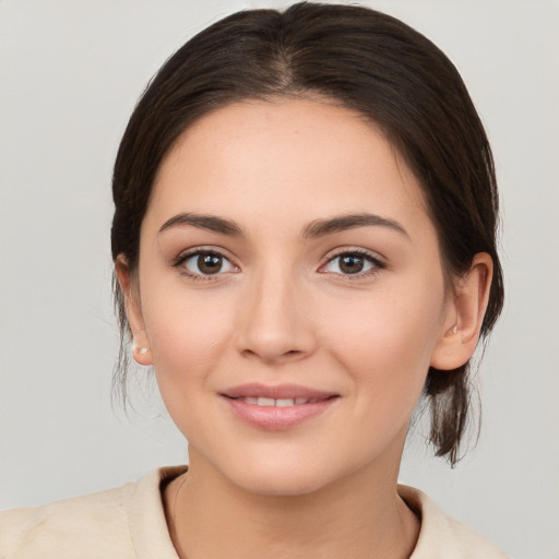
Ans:
POLYGON ((355 7, 222 20, 144 93, 114 199, 120 380, 130 342, 189 467, 4 513, 2 556, 504 557, 397 486, 420 399, 457 461, 502 307, 490 148, 431 43, 355 7))

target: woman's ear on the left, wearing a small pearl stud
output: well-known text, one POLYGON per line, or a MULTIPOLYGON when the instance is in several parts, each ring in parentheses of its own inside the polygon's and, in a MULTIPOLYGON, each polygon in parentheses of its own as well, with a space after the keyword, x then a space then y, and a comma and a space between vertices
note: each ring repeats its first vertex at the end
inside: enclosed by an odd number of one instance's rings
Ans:
POLYGON ((142 306, 140 305, 140 292, 138 280, 130 272, 128 260, 123 254, 119 254, 115 260, 115 273, 124 296, 128 322, 132 331, 133 346, 132 357, 139 365, 146 367, 153 365, 150 343, 145 332, 142 306))

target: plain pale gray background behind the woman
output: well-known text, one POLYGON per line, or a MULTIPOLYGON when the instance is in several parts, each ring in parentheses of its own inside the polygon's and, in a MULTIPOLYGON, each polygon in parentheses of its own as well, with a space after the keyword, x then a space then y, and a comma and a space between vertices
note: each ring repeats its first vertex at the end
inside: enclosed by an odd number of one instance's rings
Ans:
MULTIPOLYGON (((516 559, 559 558, 559 3, 367 3, 455 62, 503 203, 508 299, 479 373, 480 442, 451 471, 416 433, 401 478, 516 559)), ((229 12, 286 4, 0 1, 0 507, 187 461, 146 371, 130 417, 111 408, 111 164, 171 51, 229 12)))

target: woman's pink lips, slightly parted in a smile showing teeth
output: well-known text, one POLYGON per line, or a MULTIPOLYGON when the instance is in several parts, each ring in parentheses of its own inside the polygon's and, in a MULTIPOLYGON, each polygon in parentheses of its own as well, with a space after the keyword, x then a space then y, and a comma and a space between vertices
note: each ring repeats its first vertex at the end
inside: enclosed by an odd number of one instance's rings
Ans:
POLYGON ((296 384, 242 384, 226 390, 225 402, 245 423, 267 430, 297 427, 330 408, 337 394, 296 384))

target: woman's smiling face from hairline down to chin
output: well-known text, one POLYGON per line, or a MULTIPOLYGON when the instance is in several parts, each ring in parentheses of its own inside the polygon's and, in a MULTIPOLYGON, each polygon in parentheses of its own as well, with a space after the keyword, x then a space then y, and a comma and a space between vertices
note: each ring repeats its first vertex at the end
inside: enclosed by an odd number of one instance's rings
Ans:
POLYGON ((416 178, 350 110, 246 102, 188 129, 129 312, 192 467, 262 493, 395 476, 452 326, 416 178))

